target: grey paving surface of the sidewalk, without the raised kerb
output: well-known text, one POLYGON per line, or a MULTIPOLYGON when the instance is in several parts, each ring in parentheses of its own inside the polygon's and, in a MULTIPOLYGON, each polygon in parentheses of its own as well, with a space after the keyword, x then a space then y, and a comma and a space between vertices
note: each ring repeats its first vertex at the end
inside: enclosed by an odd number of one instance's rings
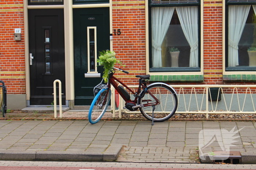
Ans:
MULTIPOLYGON (((30 113, 31 114, 31 113, 30 113)), ((198 162, 199 133, 202 130, 234 129, 235 146, 230 151, 256 153, 254 122, 222 121, 100 121, 87 120, 0 120, 0 151, 67 151, 102 153, 109 146, 122 145, 120 162, 198 162)), ((47 116, 38 115, 38 116, 47 116)), ((50 116, 48 116, 50 117, 50 116)), ((49 118, 50 119, 50 118, 49 118)), ((225 131, 223 131, 225 132, 225 131)), ((225 141, 225 136, 221 139, 225 141)), ((207 138, 207 134, 204 134, 207 138)), ((214 143, 213 143, 214 144, 214 143)), ((210 151, 217 151, 213 145, 210 151)))

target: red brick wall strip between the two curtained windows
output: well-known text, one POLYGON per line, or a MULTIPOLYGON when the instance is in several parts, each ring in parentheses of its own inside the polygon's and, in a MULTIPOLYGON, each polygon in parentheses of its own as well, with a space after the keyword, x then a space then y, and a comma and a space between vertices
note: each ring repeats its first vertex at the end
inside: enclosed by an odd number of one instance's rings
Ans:
POLYGON ((222 1, 203 3, 203 67, 206 84, 222 82, 222 1))

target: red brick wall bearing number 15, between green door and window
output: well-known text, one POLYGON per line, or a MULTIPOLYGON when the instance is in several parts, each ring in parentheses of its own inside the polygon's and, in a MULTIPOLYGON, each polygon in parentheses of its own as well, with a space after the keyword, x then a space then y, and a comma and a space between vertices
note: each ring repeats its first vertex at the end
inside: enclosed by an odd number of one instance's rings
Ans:
POLYGON ((126 65, 129 75, 119 73, 125 83, 138 83, 136 74, 146 74, 145 1, 113 0, 113 51, 126 65), (114 35, 116 29, 116 35, 114 35), (121 34, 117 35, 117 29, 121 34))

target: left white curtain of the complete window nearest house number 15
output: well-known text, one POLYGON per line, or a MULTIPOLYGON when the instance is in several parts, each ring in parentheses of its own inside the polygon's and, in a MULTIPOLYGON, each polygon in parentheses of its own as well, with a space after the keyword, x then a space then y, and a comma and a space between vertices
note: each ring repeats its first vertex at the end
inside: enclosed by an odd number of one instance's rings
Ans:
POLYGON ((161 45, 169 28, 175 7, 152 8, 153 67, 162 67, 161 45))

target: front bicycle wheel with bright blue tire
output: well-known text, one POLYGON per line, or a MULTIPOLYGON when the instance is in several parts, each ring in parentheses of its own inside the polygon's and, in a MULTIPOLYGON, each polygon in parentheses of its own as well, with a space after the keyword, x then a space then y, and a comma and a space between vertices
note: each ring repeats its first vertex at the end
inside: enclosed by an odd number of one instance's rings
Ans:
POLYGON ((107 92, 108 89, 102 89, 94 97, 88 113, 88 120, 91 124, 97 123, 107 110, 111 96, 110 90, 108 93, 107 92), (104 101, 105 97, 106 100, 102 105, 102 102, 104 101))

